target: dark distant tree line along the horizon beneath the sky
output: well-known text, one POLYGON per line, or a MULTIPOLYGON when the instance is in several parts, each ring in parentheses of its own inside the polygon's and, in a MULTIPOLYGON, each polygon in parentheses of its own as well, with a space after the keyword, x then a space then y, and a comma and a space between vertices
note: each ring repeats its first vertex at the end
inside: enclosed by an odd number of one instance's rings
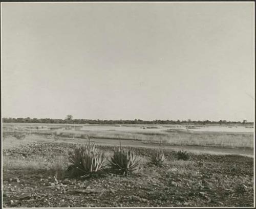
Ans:
POLYGON ((241 121, 210 121, 210 120, 91 120, 91 119, 72 119, 72 115, 68 115, 66 119, 51 119, 51 118, 3 118, 3 122, 6 123, 74 123, 74 124, 195 124, 195 125, 206 125, 206 124, 253 124, 253 122, 247 122, 246 120, 241 121))

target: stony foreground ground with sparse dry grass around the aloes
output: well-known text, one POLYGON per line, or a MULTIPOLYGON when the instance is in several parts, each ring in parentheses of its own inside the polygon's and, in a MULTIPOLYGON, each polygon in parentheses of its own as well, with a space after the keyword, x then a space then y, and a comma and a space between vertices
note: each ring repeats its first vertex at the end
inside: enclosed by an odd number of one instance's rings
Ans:
POLYGON ((4 149, 3 206, 253 206, 253 158, 190 153, 182 161, 175 151, 166 150, 165 166, 156 168, 148 165, 152 149, 135 148, 141 163, 133 175, 105 172, 82 180, 60 173, 72 146, 36 143, 4 149))

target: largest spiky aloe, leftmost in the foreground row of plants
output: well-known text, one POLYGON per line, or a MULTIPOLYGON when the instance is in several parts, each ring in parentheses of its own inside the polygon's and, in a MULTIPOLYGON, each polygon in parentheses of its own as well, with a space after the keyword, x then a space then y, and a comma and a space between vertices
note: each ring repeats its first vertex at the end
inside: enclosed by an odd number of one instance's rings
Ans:
POLYGON ((74 177, 90 177, 105 169, 105 159, 105 154, 98 150, 95 144, 76 146, 69 154, 68 171, 74 177))

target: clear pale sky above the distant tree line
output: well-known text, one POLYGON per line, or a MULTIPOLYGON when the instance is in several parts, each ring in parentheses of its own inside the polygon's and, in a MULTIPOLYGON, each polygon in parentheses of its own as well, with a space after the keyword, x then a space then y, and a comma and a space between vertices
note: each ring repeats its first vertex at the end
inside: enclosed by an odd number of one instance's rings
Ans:
POLYGON ((254 120, 254 3, 1 3, 2 116, 254 120))

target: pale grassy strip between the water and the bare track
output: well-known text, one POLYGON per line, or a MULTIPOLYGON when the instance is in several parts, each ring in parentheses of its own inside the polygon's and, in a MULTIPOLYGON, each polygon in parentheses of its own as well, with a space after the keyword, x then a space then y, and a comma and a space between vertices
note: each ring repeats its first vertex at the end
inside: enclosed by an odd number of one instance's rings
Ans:
MULTIPOLYGON (((59 125, 60 126, 60 125, 59 125)), ((44 127, 44 126, 41 126, 44 127)), ((63 125, 65 127, 65 125, 63 125)), ((155 126, 153 126, 155 127, 155 126)), ((157 126, 156 126, 157 127, 157 126)), ((4 126, 4 137, 13 135, 14 132, 22 132, 28 135, 52 136, 55 138, 87 139, 87 135, 95 139, 123 139, 138 140, 143 142, 162 141, 169 145, 193 145, 193 146, 213 146, 229 148, 253 148, 252 132, 194 132, 193 129, 161 129, 151 128, 149 130, 131 128, 87 128, 86 130, 49 130, 46 128, 36 129, 34 126, 4 126)))

